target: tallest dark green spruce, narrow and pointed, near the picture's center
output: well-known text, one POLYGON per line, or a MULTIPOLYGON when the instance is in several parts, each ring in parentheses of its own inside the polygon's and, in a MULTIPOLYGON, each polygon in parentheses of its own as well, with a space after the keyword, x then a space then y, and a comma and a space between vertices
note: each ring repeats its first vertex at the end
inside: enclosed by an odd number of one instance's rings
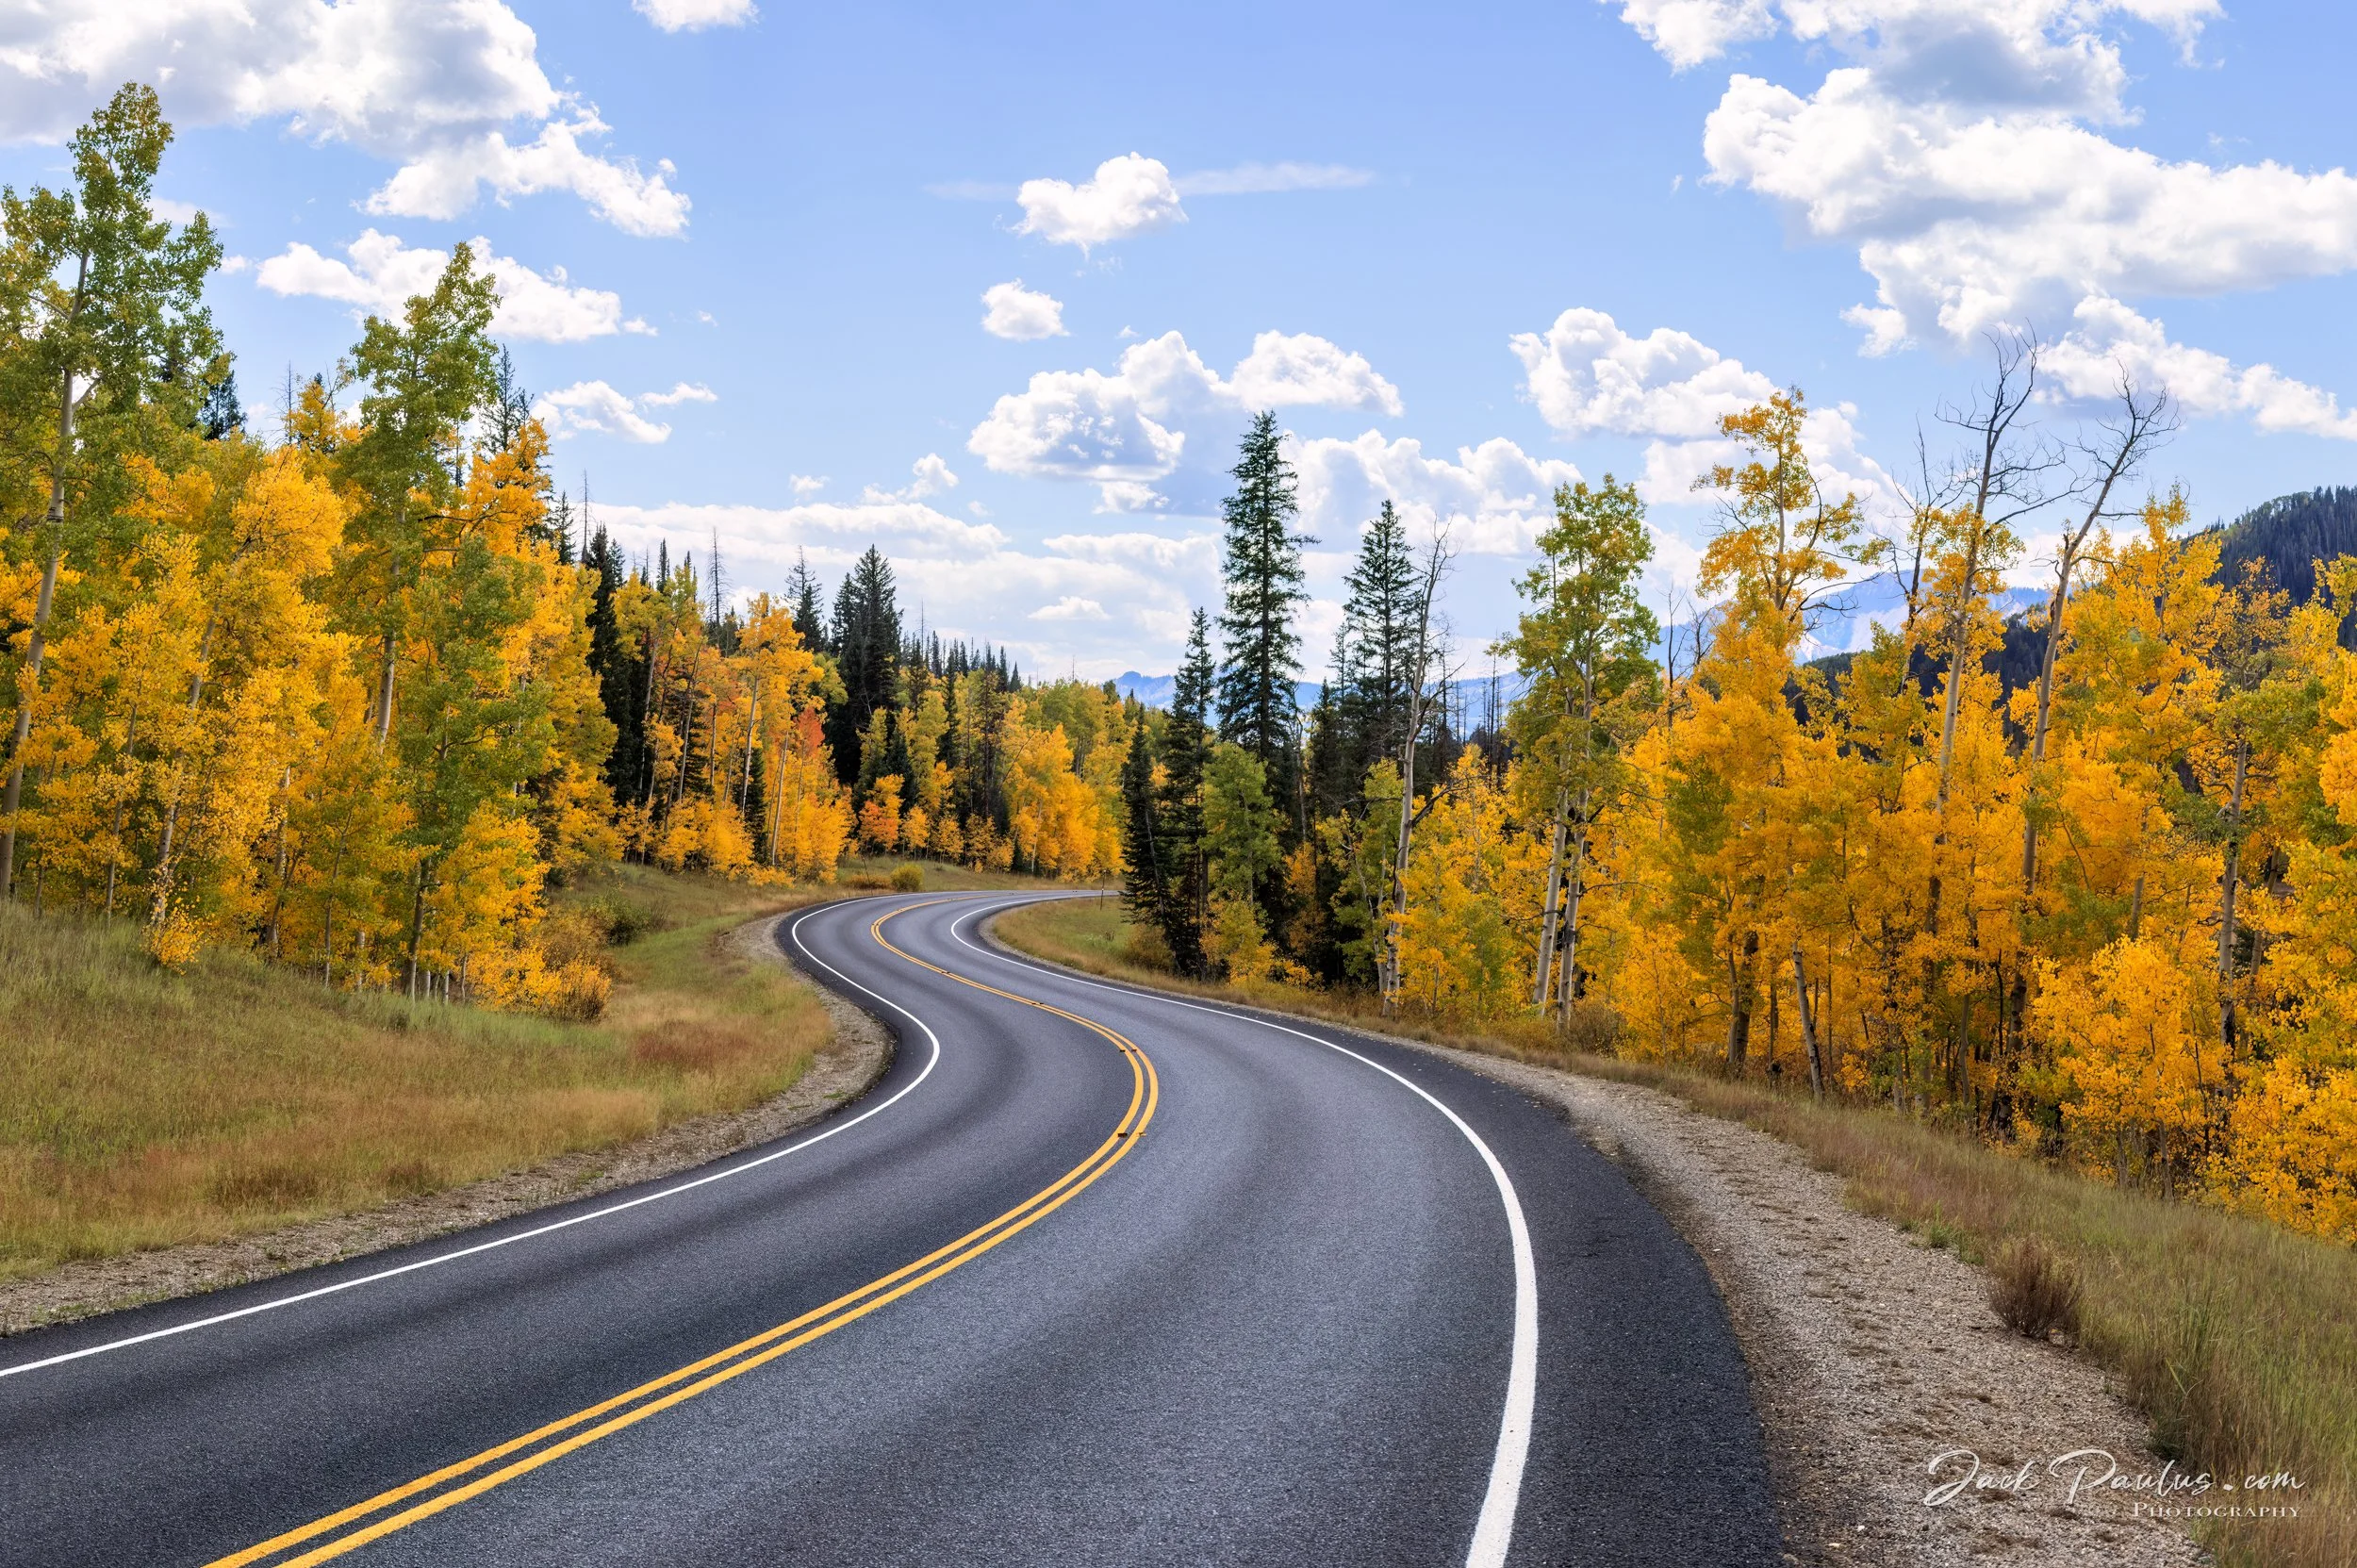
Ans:
POLYGON ((1289 802, 1299 785, 1294 674, 1301 665, 1301 637, 1294 632, 1294 615, 1308 601, 1301 587, 1301 547, 1318 540, 1294 533, 1294 469, 1285 462, 1277 415, 1254 415, 1230 472, 1235 495, 1221 505, 1228 523, 1221 559, 1228 597, 1219 618, 1226 653, 1219 672, 1219 733, 1252 752, 1268 773, 1270 795, 1289 802))

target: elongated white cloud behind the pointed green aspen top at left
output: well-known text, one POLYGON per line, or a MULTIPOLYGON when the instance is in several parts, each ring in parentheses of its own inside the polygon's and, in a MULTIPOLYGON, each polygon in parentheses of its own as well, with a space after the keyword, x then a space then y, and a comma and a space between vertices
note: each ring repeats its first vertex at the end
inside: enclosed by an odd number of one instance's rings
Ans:
MULTIPOLYGON (((490 318, 490 330, 500 337, 582 342, 613 332, 655 332, 646 321, 622 316, 622 295, 575 288, 563 266, 537 274, 514 257, 495 255, 486 238, 474 241, 474 252, 500 290, 500 309, 490 318)), ((375 229, 363 229, 344 255, 351 259, 337 262, 297 241, 262 262, 255 283, 273 295, 342 299, 363 314, 391 318, 410 295, 434 292, 434 281, 450 264, 448 250, 403 248, 401 236, 375 229)))

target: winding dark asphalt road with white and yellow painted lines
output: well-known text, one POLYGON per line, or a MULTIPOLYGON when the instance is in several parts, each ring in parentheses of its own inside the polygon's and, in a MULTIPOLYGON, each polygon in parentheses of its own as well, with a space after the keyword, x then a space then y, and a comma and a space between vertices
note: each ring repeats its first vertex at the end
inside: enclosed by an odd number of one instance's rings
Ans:
POLYGON ((1777 1561, 1695 1254, 1421 1052, 856 901, 900 1040, 669 1181, 0 1344, 0 1563, 1777 1561))

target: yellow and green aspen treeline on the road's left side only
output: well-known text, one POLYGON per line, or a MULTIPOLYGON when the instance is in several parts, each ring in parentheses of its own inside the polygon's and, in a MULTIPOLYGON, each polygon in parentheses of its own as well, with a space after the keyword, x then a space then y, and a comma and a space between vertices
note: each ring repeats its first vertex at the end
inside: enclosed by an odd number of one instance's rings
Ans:
POLYGON ((806 571, 728 601, 717 552, 585 528, 464 245, 250 431, 167 144, 125 87, 68 189, 0 196, 0 894, 167 964, 580 1014, 606 974, 547 891, 618 856, 1120 865, 1105 689, 910 634, 874 549, 823 613, 806 571))

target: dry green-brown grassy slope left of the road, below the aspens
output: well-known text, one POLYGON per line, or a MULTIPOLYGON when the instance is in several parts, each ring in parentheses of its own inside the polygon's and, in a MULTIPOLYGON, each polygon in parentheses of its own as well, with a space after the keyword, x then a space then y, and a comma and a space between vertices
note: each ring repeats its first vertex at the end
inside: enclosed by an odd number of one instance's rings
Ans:
MULTIPOLYGON (((816 995, 724 941, 783 908, 889 887, 759 889, 613 868, 603 1019, 566 1023, 396 995, 210 953, 163 974, 127 924, 0 905, 0 1278, 66 1259, 266 1231, 783 1092, 830 1037, 816 995)), ((924 865, 924 887, 1016 877, 924 865)))

